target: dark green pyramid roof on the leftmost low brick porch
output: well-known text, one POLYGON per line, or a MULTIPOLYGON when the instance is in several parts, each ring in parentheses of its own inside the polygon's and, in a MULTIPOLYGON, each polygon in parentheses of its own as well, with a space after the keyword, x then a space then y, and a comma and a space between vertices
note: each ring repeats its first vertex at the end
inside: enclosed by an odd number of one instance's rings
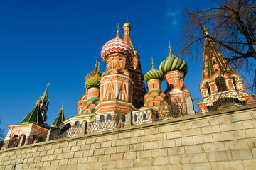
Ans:
POLYGON ((37 103, 36 106, 28 113, 26 118, 24 118, 21 124, 24 123, 37 123, 43 125, 43 118, 41 114, 41 109, 39 104, 37 103))

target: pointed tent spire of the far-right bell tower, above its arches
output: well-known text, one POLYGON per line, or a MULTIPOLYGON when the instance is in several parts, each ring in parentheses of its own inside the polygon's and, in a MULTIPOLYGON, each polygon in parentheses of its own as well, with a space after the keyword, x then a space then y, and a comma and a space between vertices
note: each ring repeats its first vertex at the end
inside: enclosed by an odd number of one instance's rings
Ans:
POLYGON ((212 77, 216 72, 233 72, 217 45, 208 36, 208 29, 203 29, 206 35, 203 50, 203 74, 202 78, 212 77))

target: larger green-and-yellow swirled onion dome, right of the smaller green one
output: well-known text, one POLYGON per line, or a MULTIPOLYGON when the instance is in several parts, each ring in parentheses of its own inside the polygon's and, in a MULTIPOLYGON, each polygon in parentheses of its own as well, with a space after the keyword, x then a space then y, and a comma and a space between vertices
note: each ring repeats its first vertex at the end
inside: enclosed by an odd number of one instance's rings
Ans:
POLYGON ((186 74, 188 72, 188 65, 184 60, 174 56, 174 54, 171 52, 170 47, 170 54, 168 55, 166 60, 161 62, 159 66, 159 71, 165 75, 167 72, 176 70, 186 74))

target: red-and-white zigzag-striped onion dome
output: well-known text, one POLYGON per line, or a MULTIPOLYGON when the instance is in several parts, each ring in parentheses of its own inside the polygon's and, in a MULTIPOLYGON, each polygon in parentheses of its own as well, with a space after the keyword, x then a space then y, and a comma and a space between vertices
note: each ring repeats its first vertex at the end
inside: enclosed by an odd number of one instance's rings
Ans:
POLYGON ((132 47, 127 42, 119 38, 118 34, 116 38, 109 40, 107 43, 105 43, 105 45, 103 45, 100 53, 102 61, 106 63, 105 60, 107 56, 117 52, 127 55, 129 60, 132 60, 132 57, 134 56, 134 50, 132 47))

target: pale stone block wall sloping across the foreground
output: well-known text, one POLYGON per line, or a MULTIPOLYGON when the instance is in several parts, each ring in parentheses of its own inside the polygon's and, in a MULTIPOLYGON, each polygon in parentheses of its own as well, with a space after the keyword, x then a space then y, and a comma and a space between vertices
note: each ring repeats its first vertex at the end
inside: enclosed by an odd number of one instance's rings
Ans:
POLYGON ((256 105, 0 151, 0 169, 256 169, 256 105), (17 165, 18 166, 18 165, 17 165))

